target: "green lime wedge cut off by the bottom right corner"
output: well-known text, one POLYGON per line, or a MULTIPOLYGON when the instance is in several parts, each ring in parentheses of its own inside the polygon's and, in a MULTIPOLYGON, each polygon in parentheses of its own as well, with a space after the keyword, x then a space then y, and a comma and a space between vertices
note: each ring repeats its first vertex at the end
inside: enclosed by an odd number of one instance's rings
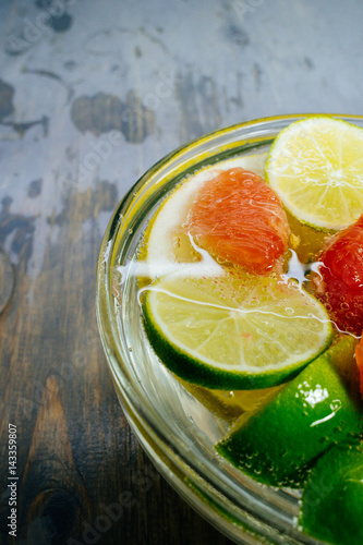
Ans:
POLYGON ((299 523, 332 545, 363 543, 363 448, 337 445, 312 470, 299 523))

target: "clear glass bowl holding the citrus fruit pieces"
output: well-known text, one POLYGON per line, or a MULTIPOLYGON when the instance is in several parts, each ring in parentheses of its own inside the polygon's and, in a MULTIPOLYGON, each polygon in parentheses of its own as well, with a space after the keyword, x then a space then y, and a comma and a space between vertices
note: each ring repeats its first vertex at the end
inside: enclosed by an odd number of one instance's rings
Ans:
MULTIPOLYGON (((297 524, 300 493, 257 484, 214 449, 230 425, 158 361, 145 336, 136 262, 143 233, 165 196, 186 174, 226 158, 268 150, 306 114, 233 125, 189 143, 152 167, 117 207, 97 269, 97 318, 117 395, 156 468, 213 525, 241 544, 316 544, 297 524)), ((363 118, 332 116, 363 128, 363 118)), ((137 269, 138 267, 138 269, 137 269)))

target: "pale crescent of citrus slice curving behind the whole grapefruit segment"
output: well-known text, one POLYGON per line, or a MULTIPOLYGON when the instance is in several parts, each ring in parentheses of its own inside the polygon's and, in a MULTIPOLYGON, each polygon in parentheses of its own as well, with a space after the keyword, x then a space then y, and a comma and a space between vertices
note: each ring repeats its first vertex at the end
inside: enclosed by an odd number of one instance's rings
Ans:
POLYGON ((154 280, 176 269, 179 264, 199 262, 201 252, 193 247, 186 234, 180 232, 195 194, 207 180, 222 170, 240 167, 263 175, 266 157, 266 153, 235 157, 205 167, 182 181, 162 203, 146 229, 141 255, 144 275, 154 280))

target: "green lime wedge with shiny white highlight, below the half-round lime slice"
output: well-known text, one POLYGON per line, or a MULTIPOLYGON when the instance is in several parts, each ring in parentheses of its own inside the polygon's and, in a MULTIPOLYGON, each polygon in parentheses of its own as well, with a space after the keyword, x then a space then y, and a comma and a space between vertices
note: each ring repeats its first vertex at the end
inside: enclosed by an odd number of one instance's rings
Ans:
POLYGON ((355 340, 342 337, 267 405, 242 415, 217 451, 254 480, 300 487, 307 470, 336 441, 362 431, 353 359, 355 340))

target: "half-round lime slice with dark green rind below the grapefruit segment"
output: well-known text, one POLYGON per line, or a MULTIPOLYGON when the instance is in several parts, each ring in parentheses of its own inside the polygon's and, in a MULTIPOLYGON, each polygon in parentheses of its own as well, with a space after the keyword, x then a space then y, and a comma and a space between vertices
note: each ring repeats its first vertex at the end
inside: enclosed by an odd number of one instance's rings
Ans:
POLYGON ((146 288, 145 329, 178 376, 207 388, 281 384, 331 341, 328 315, 294 281, 237 272, 166 275, 146 288))

